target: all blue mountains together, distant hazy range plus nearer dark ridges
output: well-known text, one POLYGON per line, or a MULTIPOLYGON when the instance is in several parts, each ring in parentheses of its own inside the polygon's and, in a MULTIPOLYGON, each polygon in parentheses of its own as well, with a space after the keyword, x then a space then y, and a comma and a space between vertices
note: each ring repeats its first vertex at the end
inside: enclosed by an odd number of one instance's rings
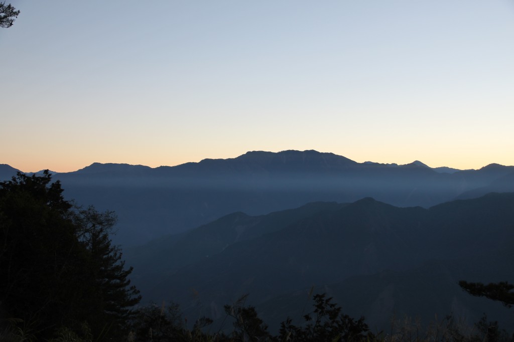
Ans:
MULTIPOLYGON (((0 180, 16 172, 0 164, 0 180)), ((173 167, 94 163, 53 179, 66 199, 118 214, 113 239, 144 300, 178 302, 192 319, 219 326, 223 306, 249 293, 276 330, 287 316, 299 323, 315 291, 376 330, 451 313, 511 324, 457 282, 512 280, 514 166, 252 151, 173 167)))

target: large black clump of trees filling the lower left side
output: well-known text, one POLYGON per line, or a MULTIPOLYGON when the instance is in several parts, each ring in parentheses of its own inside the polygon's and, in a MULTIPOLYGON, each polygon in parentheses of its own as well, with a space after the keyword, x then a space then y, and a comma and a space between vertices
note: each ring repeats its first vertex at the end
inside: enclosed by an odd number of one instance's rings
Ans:
POLYGON ((140 296, 109 239, 116 217, 62 192, 48 171, 0 182, 0 319, 23 321, 41 339, 122 336, 140 296))

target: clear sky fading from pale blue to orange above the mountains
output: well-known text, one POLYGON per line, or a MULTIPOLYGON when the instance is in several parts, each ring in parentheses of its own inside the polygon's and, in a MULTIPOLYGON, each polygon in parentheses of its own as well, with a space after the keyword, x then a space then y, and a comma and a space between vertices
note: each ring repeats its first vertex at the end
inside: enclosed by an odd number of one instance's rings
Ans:
POLYGON ((512 0, 12 0, 0 163, 514 165, 512 0))

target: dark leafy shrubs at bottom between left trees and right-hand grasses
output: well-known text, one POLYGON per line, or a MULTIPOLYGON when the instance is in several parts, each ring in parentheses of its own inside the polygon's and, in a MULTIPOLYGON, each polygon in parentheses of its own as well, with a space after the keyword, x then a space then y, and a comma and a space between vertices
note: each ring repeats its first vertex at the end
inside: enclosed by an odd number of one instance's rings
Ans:
POLYGON ((211 319, 198 319, 192 329, 188 329, 187 320, 181 319, 176 305, 168 308, 151 304, 137 309, 138 314, 132 323, 131 340, 134 342, 372 342, 379 341, 379 336, 369 331, 364 318, 353 319, 341 314, 341 308, 326 298, 325 294, 314 296, 314 311, 304 316, 305 325, 295 326, 291 319, 282 322, 278 335, 268 331, 268 326, 259 317, 255 307, 245 306, 248 295, 244 295, 231 305, 225 306, 225 319, 232 319, 233 329, 227 332, 224 323, 215 333, 205 331, 212 323, 211 319))

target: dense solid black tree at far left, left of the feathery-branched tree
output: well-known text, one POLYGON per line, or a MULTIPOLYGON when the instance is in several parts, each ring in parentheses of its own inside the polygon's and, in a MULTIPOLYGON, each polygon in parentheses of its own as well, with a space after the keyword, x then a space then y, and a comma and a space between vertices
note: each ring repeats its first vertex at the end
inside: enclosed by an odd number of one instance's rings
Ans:
POLYGON ((48 173, 0 183, 0 302, 8 317, 50 324, 61 315, 63 279, 75 273, 81 250, 64 218, 70 208, 48 173))

